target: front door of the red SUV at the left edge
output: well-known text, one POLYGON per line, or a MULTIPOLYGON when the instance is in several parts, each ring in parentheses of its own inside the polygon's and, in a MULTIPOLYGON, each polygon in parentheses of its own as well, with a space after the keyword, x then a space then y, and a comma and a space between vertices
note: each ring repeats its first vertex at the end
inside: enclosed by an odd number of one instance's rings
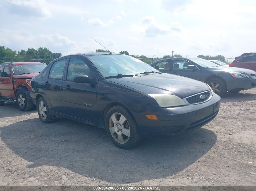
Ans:
MULTIPOLYGON (((0 69, 1 70, 1 69, 0 69)), ((1 76, 1 94, 4 97, 15 97, 12 85, 12 78, 8 66, 3 67, 3 72, 6 73, 6 77, 1 76)))

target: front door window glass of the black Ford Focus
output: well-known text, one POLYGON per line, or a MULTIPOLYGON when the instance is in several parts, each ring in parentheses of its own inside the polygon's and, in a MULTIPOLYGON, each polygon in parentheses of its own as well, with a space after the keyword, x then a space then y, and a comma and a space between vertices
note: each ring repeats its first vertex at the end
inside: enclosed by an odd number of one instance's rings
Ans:
POLYGON ((88 75, 90 77, 90 68, 81 59, 71 58, 68 63, 67 79, 73 80, 78 75, 88 75))

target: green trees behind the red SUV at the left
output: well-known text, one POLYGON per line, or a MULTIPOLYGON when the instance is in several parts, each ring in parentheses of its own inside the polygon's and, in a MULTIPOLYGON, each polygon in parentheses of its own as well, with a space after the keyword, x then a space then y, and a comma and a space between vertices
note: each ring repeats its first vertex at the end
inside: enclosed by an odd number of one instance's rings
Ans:
POLYGON ((61 57, 61 53, 52 53, 48 48, 28 48, 27 50, 15 51, 0 46, 0 63, 3 62, 45 62, 48 64, 53 59, 61 57))

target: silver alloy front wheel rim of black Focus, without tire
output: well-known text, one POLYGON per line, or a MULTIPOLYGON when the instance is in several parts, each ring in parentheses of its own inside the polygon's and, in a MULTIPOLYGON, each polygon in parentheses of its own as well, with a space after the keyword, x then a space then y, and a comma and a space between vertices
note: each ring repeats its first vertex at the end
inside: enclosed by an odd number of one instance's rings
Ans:
POLYGON ((113 113, 109 119, 109 130, 116 142, 125 144, 130 137, 130 126, 121 113, 113 113))

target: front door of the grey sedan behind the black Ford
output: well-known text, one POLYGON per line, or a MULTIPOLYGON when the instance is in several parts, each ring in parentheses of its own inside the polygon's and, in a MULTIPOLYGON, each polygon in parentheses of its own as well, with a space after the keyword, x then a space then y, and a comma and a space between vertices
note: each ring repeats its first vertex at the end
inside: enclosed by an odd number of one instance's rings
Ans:
POLYGON ((194 65, 187 60, 183 59, 172 59, 170 63, 170 74, 184 76, 195 80, 201 80, 201 71, 199 68, 191 70, 188 69, 188 65, 194 65))

